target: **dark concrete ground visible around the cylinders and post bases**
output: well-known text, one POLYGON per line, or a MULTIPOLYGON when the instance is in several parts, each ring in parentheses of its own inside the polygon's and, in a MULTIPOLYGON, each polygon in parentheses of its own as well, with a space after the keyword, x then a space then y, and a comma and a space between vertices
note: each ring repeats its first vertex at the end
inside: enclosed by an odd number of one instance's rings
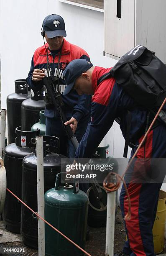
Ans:
MULTIPOLYGON (((89 240, 87 241, 85 250, 91 254, 91 256, 105 256, 105 232, 106 228, 90 228, 89 240)), ((114 252, 121 251, 123 248, 123 243, 125 241, 125 229, 123 224, 123 219, 121 217, 120 209, 117 210, 117 215, 115 219, 115 241, 114 241, 114 252)), ((0 248, 3 247, 25 248, 25 253, 15 253, 15 254, 0 254, 0 255, 10 255, 10 256, 38 256, 38 251, 27 248, 23 242, 13 242, 13 243, 0 243, 0 248)), ((164 250, 161 254, 166 256, 166 241, 164 244, 164 250)), ((73 255, 66 255, 73 256, 73 255)))

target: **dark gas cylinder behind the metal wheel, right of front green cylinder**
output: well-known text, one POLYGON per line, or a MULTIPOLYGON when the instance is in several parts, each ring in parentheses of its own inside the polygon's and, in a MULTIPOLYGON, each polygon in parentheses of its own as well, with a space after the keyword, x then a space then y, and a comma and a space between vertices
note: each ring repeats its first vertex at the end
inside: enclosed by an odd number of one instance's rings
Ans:
MULTIPOLYGON (((88 225, 90 227, 99 228, 105 227, 107 221, 107 192, 103 187, 103 181, 109 172, 118 173, 118 163, 117 160, 109 156, 109 145, 104 147, 98 147, 95 158, 91 164, 100 166, 101 170, 97 173, 97 181, 100 184, 102 190, 102 205, 94 195, 93 187, 89 187, 87 190, 87 195, 89 198, 89 210, 88 210, 88 225), (111 170, 105 166, 111 166, 111 170)), ((117 192, 116 192, 116 209, 115 214, 117 213, 117 192)))

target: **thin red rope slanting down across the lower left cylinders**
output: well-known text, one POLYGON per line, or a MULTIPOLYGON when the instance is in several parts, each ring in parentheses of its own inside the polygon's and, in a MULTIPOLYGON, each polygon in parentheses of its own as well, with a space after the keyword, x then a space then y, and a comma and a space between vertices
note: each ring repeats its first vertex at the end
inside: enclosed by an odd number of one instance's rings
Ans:
POLYGON ((47 225, 49 225, 51 228, 53 228, 56 232, 58 232, 61 236, 63 236, 64 238, 66 238, 69 242, 71 242, 72 244, 74 244, 74 246, 76 246, 77 248, 79 248, 81 251, 83 251, 86 255, 91 256, 89 253, 87 253, 86 251, 84 251, 84 249, 82 249, 80 246, 77 245, 77 243, 74 243, 70 238, 68 238, 67 236, 65 236, 63 233, 61 233, 58 229, 54 228, 49 222, 47 222, 46 220, 44 220, 40 215, 38 215, 37 212, 33 211, 28 205, 26 205, 25 202, 23 202, 22 200, 20 200, 19 197, 17 197, 13 192, 10 191, 10 189, 6 188, 8 190, 8 192, 10 192, 15 198, 17 198, 23 205, 25 205, 31 212, 35 213, 36 216, 38 218, 40 218, 41 220, 43 220, 47 225))

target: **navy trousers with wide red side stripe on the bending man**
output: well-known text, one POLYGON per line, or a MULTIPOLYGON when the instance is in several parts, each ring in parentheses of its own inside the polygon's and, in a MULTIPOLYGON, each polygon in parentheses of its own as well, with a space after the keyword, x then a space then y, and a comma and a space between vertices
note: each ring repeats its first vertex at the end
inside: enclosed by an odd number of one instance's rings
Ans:
MULTIPOLYGON (((142 138, 140 138, 140 141, 142 138)), ((139 141, 139 142, 140 142, 139 141)), ((136 151, 133 148, 131 156, 136 151)), ((131 256, 154 256, 152 228, 156 217, 158 195, 166 174, 166 128, 160 125, 150 131, 146 143, 125 174, 131 200, 131 220, 125 221, 128 241, 123 252, 131 256)), ((128 212, 124 186, 120 193, 123 218, 128 212)))

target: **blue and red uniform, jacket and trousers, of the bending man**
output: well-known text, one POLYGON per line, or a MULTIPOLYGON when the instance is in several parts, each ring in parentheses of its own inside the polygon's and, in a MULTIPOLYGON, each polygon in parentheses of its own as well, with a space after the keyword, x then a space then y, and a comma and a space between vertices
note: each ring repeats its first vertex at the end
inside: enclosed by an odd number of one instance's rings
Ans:
MULTIPOLYGON (((136 104, 120 84, 116 83, 114 78, 105 79, 97 86, 97 80, 109 70, 95 67, 92 73, 94 95, 91 104, 91 122, 79 143, 75 158, 89 159, 111 128, 115 118, 120 117, 120 128, 124 138, 126 138, 128 110, 132 113, 130 141, 142 127, 146 126, 147 110, 136 104)), ((165 108, 166 106, 164 106, 165 108)), ((136 139, 134 144, 139 144, 142 141, 144 132, 145 130, 142 134, 139 132, 140 137, 136 139)), ((136 149, 137 147, 133 146, 131 156, 136 149)), ((148 133, 146 142, 139 149, 135 161, 125 175, 131 202, 131 219, 125 221, 128 240, 125 242, 123 253, 126 255, 156 255, 152 228, 157 216, 158 195, 166 172, 165 159, 166 127, 158 122, 148 133), (161 161, 161 158, 164 161, 161 161), (146 159, 146 161, 139 161, 140 159, 146 159)), ((120 208, 123 218, 128 212, 127 198, 126 189, 123 185, 120 193, 120 208)))

